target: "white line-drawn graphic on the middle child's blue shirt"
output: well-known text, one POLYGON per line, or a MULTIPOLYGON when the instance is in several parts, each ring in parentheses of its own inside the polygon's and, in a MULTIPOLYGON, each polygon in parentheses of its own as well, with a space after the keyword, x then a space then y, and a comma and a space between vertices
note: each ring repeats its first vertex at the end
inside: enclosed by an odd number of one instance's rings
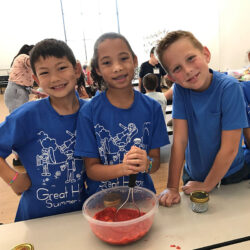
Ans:
MULTIPOLYGON (((142 128, 142 136, 138 137, 138 128, 134 123, 128 123, 127 126, 119 123, 121 132, 111 135, 108 129, 104 126, 96 124, 96 135, 100 138, 99 154, 105 165, 114 165, 122 163, 124 155, 130 150, 131 146, 135 145, 141 149, 147 150, 147 145, 144 144, 144 139, 148 138, 150 122, 145 122, 142 128)), ((119 183, 119 178, 115 182, 102 181, 101 189, 111 188, 115 186, 126 186, 128 181, 122 178, 122 183, 119 183)), ((137 186, 143 186, 143 181, 136 181, 137 186)))

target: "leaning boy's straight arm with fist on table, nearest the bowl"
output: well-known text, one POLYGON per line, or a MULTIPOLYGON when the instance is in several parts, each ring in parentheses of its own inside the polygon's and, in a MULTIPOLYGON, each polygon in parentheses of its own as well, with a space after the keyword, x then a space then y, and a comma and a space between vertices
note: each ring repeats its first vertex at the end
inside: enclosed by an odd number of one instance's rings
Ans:
POLYGON ((171 147, 167 189, 159 196, 160 204, 167 207, 180 202, 179 182, 188 142, 187 121, 181 119, 174 119, 173 121, 174 135, 171 147))

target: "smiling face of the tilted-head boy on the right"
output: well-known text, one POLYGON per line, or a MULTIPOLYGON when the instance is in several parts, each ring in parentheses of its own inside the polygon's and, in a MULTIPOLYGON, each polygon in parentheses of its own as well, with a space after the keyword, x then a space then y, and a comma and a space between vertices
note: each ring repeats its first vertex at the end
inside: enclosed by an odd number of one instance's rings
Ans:
POLYGON ((210 86, 212 74, 209 72, 209 61, 209 50, 194 47, 188 38, 171 44, 162 56, 170 80, 195 91, 204 91, 210 86))

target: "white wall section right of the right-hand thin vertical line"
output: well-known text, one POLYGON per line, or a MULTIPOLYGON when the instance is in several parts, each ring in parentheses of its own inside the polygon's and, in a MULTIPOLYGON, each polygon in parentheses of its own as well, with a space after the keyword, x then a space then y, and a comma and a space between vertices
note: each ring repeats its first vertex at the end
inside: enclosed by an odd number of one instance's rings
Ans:
POLYGON ((121 0, 119 7, 121 32, 137 53, 139 64, 149 58, 143 38, 163 29, 191 31, 209 48, 210 67, 215 70, 248 64, 250 0, 121 0))

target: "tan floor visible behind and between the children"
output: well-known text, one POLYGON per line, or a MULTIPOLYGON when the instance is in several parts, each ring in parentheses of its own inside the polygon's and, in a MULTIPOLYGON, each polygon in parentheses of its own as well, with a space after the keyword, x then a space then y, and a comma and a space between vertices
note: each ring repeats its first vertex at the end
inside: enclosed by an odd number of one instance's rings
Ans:
MULTIPOLYGON (((8 115, 8 109, 4 104, 4 96, 0 94, 0 122, 3 122, 6 115, 8 115)), ((167 117, 169 119, 169 117, 167 117)), ((172 136, 170 136, 170 141, 172 136)), ((161 149, 161 167, 152 174, 152 178, 155 184, 157 193, 160 193, 166 187, 167 172, 168 172, 168 160, 170 155, 170 145, 167 145, 161 149)), ((7 162, 12 166, 13 156, 10 155, 7 158, 7 162)), ((15 168, 16 171, 24 171, 23 167, 15 168)), ((20 197, 17 196, 11 188, 0 178, 0 223, 11 223, 14 221, 16 209, 18 206, 20 197)))

